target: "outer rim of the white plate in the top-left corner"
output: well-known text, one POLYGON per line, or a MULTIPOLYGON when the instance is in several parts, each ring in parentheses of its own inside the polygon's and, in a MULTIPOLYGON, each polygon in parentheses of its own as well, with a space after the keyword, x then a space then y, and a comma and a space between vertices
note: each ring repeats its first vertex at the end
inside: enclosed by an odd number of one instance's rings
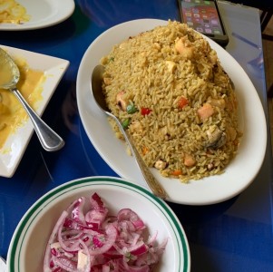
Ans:
POLYGON ((68 19, 71 15, 73 15, 73 11, 75 9, 75 3, 73 0, 62 0, 62 1, 40 0, 40 1, 45 1, 49 3, 50 5, 52 5, 53 3, 57 5, 58 7, 57 15, 59 16, 54 16, 54 19, 45 21, 42 23, 31 22, 31 19, 30 21, 25 22, 24 24, 0 23, 0 31, 25 31, 25 30, 35 30, 35 29, 50 27, 55 24, 60 24, 66 19, 68 19), (60 10, 62 11, 61 13, 59 12, 60 10))

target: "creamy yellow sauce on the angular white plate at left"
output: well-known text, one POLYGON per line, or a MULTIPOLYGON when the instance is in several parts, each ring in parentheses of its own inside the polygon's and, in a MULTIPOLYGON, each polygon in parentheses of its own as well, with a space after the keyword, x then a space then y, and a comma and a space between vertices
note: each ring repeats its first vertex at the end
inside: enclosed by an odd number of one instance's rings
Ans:
MULTIPOLYGON (((25 100, 34 108, 42 100, 45 75, 43 71, 29 68, 23 59, 15 59, 20 71, 17 89, 25 100)), ((8 136, 27 120, 27 113, 15 94, 9 90, 0 89, 0 149, 5 145, 8 136)))

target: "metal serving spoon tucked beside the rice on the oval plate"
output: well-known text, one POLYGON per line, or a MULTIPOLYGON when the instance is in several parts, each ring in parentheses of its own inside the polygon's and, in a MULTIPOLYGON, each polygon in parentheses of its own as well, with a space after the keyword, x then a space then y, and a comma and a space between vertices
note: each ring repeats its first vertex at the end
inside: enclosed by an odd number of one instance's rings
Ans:
POLYGON ((163 189, 160 182, 158 180, 155 180, 155 178, 152 176, 151 171, 149 170, 149 168, 147 167, 145 162, 142 160, 140 153, 137 151, 135 146, 132 144, 132 136, 130 135, 130 133, 127 133, 127 131, 125 131, 123 129, 121 121, 110 112, 110 110, 105 102, 104 95, 102 92, 102 73, 103 73, 103 71, 104 71, 104 68, 102 65, 97 65, 93 69, 92 92, 93 92, 94 101, 98 104, 98 106, 100 107, 100 109, 103 112, 105 112, 108 116, 111 116, 117 122, 120 130, 122 131, 122 134, 123 134, 125 140, 127 141, 128 145, 132 151, 132 155, 134 156, 135 160, 138 163, 138 166, 141 170, 142 176, 143 176, 144 180, 146 180, 147 185, 151 189, 152 193, 154 195, 156 195, 157 197, 160 197, 161 199, 166 199, 167 193, 166 193, 165 189, 163 189))

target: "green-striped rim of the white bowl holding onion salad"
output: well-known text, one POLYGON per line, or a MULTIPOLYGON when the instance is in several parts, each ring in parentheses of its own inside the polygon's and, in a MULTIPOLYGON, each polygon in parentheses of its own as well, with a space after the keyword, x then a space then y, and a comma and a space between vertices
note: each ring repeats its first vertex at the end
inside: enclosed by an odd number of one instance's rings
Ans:
POLYGON ((180 219, 178 219, 171 207, 162 199, 155 197, 148 189, 145 189, 138 184, 134 184, 122 178, 107 176, 93 176, 70 180, 55 187, 54 189, 49 190, 41 198, 37 199, 34 204, 29 209, 27 209, 27 211, 24 213, 23 218, 20 219, 18 225, 15 228, 15 232, 11 239, 7 253, 6 265, 8 269, 11 269, 11 271, 20 271, 20 255, 22 251, 21 247, 24 241, 24 237, 35 217, 38 216, 40 213, 43 213, 44 206, 50 205, 50 201, 53 200, 54 197, 57 198, 60 194, 63 195, 69 193, 73 189, 79 189, 84 187, 84 185, 87 188, 92 187, 93 185, 105 186, 105 188, 109 186, 119 186, 120 188, 125 190, 130 189, 133 191, 137 191, 137 193, 141 195, 141 198, 149 199, 153 206, 161 210, 162 216, 168 220, 171 226, 172 233, 177 237, 179 252, 182 251, 183 255, 183 263, 181 264, 180 262, 179 266, 182 268, 182 270, 180 271, 190 272, 190 246, 188 238, 186 236, 184 228, 180 223, 180 219), (23 238, 22 234, 24 234, 23 238))

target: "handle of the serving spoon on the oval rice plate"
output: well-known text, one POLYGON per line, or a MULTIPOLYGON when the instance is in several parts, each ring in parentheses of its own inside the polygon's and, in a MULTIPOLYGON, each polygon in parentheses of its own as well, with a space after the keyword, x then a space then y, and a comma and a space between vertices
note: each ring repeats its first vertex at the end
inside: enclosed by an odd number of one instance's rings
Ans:
POLYGON ((141 170, 143 178, 144 178, 144 180, 146 180, 146 183, 149 186, 149 188, 151 189, 152 193, 161 199, 167 199, 167 197, 168 197, 167 192, 165 191, 165 189, 163 189, 163 187, 161 186, 161 183, 153 177, 148 166, 146 165, 144 160, 141 158, 139 151, 135 148, 134 144, 132 144, 131 134, 126 132, 122 128, 122 123, 121 123, 121 121, 119 121, 118 118, 116 118, 114 115, 112 115, 112 113, 109 113, 109 112, 106 112, 106 113, 108 115, 112 116, 112 118, 114 118, 114 120, 118 123, 118 125, 122 131, 122 134, 132 151, 132 155, 135 158, 135 160, 137 161, 137 164, 141 170))

